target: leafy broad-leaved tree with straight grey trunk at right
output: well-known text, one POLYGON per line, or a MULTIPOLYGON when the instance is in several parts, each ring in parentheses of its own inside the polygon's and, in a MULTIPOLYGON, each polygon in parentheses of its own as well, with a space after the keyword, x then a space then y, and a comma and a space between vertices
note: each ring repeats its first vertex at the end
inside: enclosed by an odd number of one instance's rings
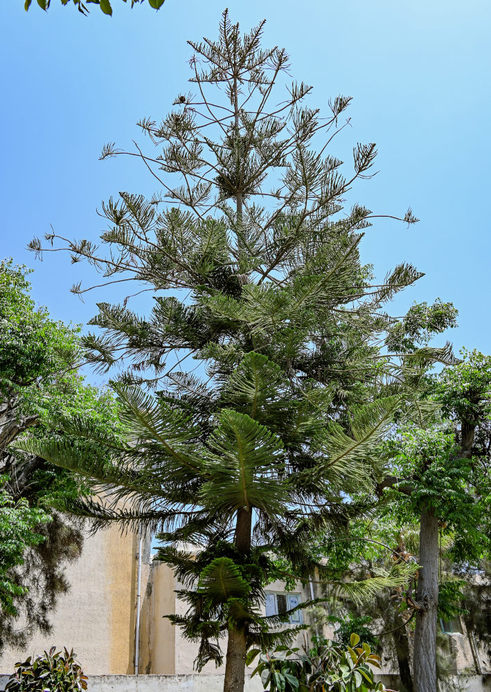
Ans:
MULTIPOLYGON (((440 406, 434 423, 413 424, 386 444, 391 511, 401 525, 420 525, 416 594, 414 684, 436 692, 436 626, 439 592, 439 538, 452 536, 449 556, 456 565, 476 565, 489 554, 491 524, 491 358, 463 352, 463 360, 427 383, 426 396, 440 406)), ((441 604, 440 604, 441 605, 441 604)))

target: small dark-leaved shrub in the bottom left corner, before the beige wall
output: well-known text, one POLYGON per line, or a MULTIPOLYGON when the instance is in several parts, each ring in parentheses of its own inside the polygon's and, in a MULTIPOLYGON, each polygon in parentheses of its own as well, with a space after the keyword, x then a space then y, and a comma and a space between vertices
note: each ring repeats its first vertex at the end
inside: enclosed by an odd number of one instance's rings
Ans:
POLYGON ((75 661, 73 649, 56 651, 55 646, 37 656, 29 656, 24 663, 15 664, 15 673, 10 675, 5 692, 72 692, 87 689, 87 677, 80 664, 75 661))

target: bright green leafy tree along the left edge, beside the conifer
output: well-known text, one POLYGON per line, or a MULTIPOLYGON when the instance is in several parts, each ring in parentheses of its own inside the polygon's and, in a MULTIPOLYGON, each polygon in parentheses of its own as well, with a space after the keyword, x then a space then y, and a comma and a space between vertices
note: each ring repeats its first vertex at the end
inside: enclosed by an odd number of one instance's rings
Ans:
POLYGON ((115 417, 111 399, 76 372, 79 328, 35 307, 27 275, 0 263, 0 650, 25 646, 36 628, 48 632, 69 588, 64 565, 82 549, 80 522, 54 506, 86 491, 73 474, 10 445, 34 427, 39 439, 58 435, 48 419, 62 412, 83 410, 101 430, 115 417))

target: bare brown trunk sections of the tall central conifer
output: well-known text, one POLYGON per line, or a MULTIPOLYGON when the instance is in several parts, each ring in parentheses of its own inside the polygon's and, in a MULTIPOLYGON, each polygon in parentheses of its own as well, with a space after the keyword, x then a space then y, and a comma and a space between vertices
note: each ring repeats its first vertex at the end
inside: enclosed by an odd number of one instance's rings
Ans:
MULTIPOLYGON (((244 555, 251 552, 252 510, 240 509, 235 527, 235 547, 244 555)), ((247 629, 229 626, 226 646, 224 692, 244 692, 247 629)))

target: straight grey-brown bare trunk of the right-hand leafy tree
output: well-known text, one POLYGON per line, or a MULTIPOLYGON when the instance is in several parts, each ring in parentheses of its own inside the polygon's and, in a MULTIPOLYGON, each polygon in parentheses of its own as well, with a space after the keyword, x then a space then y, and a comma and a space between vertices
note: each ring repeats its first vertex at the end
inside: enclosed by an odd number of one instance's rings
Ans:
POLYGON ((419 563, 413 680, 418 692, 436 692, 438 519, 431 509, 421 512, 419 563))

